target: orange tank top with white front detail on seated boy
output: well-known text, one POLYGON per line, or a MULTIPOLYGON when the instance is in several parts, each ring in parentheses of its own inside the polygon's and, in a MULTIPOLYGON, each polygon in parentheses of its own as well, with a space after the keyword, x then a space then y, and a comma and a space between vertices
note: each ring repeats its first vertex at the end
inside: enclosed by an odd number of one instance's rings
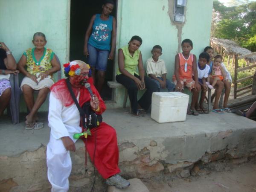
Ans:
POLYGON ((179 75, 180 78, 183 79, 191 79, 192 73, 193 73, 193 54, 189 54, 189 58, 185 59, 183 54, 179 53, 180 58, 180 69, 179 69, 179 75))

